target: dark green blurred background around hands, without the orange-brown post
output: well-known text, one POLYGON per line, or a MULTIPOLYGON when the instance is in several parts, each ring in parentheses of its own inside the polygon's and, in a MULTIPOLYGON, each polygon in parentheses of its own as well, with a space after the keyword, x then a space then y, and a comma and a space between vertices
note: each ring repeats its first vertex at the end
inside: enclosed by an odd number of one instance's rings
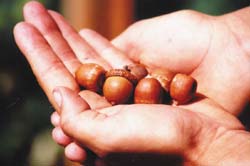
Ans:
MULTIPOLYGON (((12 30, 28 0, 0 0, 0 165, 62 165, 61 148, 50 137, 52 106, 15 45, 12 30)), ((60 11, 59 0, 40 0, 60 11)), ((181 9, 212 15, 249 5, 248 0, 136 0, 136 19, 181 9)), ((249 115, 248 115, 249 116, 249 115)))

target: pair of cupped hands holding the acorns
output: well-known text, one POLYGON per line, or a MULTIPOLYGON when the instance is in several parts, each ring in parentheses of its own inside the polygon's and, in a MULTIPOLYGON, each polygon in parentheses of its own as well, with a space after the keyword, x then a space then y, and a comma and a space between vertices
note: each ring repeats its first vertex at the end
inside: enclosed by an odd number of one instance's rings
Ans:
POLYGON ((246 165, 250 134, 235 115, 250 96, 249 15, 249 8, 220 17, 180 11, 132 25, 112 41, 114 47, 91 30, 76 33, 57 13, 29 2, 14 35, 59 112, 52 116, 53 138, 69 159, 85 160, 87 148, 108 163, 114 154, 154 153, 177 155, 186 165, 246 165), (101 96, 79 91, 74 72, 86 62, 106 69, 164 64, 196 78, 203 97, 178 107, 111 107, 101 96))

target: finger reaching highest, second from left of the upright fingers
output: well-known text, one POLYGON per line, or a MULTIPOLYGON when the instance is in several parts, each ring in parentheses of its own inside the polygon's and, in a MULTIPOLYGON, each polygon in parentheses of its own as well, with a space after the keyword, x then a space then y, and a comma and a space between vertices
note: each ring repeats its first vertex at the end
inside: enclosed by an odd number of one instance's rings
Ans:
POLYGON ((60 57, 68 70, 74 74, 80 66, 80 62, 44 6, 39 2, 31 1, 24 6, 23 13, 25 21, 34 25, 41 32, 56 55, 60 57))

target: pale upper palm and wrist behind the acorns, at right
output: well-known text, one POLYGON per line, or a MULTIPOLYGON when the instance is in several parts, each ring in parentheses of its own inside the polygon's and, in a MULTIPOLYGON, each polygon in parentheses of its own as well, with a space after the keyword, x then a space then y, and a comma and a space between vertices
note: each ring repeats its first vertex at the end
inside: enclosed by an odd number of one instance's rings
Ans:
POLYGON ((149 68, 191 74, 200 93, 238 115, 250 101, 249 11, 178 11, 139 21, 112 42, 149 68))

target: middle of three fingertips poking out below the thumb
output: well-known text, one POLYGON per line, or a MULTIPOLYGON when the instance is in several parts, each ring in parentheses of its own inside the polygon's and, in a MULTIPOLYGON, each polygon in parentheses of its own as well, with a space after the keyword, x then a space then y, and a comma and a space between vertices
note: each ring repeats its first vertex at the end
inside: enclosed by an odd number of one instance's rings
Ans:
POLYGON ((52 138, 61 146, 67 146, 72 142, 71 138, 68 137, 60 127, 56 127, 52 130, 52 138))

